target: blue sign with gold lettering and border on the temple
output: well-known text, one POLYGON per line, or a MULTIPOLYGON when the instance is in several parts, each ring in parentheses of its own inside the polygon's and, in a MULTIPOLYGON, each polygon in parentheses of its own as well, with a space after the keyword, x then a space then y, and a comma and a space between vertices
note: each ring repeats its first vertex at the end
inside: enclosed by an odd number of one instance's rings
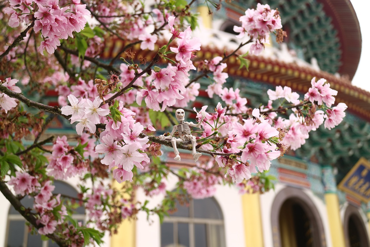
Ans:
POLYGON ((338 188, 361 201, 368 202, 370 200, 370 162, 360 158, 340 182, 338 188))

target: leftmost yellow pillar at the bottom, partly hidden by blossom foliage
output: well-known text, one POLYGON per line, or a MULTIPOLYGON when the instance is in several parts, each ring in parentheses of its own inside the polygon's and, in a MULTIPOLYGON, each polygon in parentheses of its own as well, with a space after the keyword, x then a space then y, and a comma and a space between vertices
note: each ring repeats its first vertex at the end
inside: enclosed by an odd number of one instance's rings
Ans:
MULTIPOLYGON (((113 180, 112 187, 120 189, 120 184, 113 180)), ((136 224, 134 220, 124 220, 111 236, 111 247, 135 247, 136 224)))

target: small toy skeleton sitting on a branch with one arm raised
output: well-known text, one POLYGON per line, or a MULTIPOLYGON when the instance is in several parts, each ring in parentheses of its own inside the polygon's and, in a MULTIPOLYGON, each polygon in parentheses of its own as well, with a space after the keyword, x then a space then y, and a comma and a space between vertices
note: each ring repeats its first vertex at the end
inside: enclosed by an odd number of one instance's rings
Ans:
POLYGON ((159 136, 159 139, 161 139, 161 140, 171 139, 171 143, 172 143, 172 146, 174 147, 174 152, 175 152, 175 155, 176 155, 176 157, 175 157, 176 161, 181 160, 181 157, 179 155, 180 153, 179 153, 179 151, 177 150, 177 147, 176 147, 176 142, 191 141, 191 145, 192 145, 192 148, 193 148, 192 154, 193 154, 194 162, 198 161, 199 157, 202 156, 201 153, 197 153, 195 151, 196 138, 195 138, 195 136, 191 135, 191 131, 190 131, 190 127, 196 127, 196 128, 199 128, 199 129, 201 128, 201 124, 202 124, 203 120, 206 117, 206 113, 205 112, 200 112, 200 113, 202 114, 202 119, 201 119, 201 121, 199 121, 198 124, 195 124, 193 122, 184 122, 185 111, 183 109, 177 109, 175 115, 176 115, 176 119, 179 121, 179 124, 174 126, 174 128, 172 129, 172 132, 169 136, 164 136, 164 135, 159 136), (180 138, 172 137, 172 135, 176 131, 179 133, 180 138))

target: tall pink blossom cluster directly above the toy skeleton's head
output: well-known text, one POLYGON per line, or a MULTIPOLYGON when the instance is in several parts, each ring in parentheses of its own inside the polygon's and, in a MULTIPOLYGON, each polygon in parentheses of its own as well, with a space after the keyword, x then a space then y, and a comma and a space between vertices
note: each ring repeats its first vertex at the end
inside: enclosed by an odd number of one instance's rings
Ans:
POLYGON ((140 90, 136 97, 139 105, 145 98, 146 105, 155 111, 164 111, 167 106, 186 106, 199 94, 198 83, 192 83, 188 88, 185 88, 185 85, 189 82, 189 70, 195 69, 191 58, 194 51, 200 50, 200 40, 191 37, 190 26, 184 32, 175 29, 174 21, 175 17, 170 16, 168 25, 175 36, 172 38, 178 38, 177 47, 170 47, 170 50, 176 54, 177 63, 175 66, 168 64, 165 68, 154 69, 151 75, 145 78, 146 89, 140 90))

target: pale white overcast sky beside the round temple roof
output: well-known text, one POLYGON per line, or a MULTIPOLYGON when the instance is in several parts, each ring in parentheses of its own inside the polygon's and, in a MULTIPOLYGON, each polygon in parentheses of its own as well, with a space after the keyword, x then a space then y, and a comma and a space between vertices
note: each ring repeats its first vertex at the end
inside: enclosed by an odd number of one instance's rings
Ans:
POLYGON ((370 91, 370 31, 369 23, 367 23, 369 22, 370 0, 351 0, 351 3, 359 19, 362 35, 360 63, 352 84, 370 91))

